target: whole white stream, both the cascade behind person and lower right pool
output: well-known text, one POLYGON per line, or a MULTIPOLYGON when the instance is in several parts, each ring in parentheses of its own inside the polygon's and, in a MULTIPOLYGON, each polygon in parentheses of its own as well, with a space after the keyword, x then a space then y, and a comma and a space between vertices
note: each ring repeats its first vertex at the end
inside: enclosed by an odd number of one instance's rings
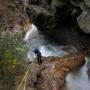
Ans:
MULTIPOLYGON (((29 48, 27 54, 27 60, 32 61, 34 54, 33 48, 38 48, 42 56, 65 56, 72 52, 76 52, 77 49, 73 46, 59 46, 53 45, 45 36, 38 31, 37 27, 32 24, 29 31, 26 33, 24 41, 29 48)), ((85 65, 77 73, 69 73, 66 77, 66 85, 68 90, 90 90, 90 81, 87 74, 87 64, 89 58, 86 58, 85 65)))

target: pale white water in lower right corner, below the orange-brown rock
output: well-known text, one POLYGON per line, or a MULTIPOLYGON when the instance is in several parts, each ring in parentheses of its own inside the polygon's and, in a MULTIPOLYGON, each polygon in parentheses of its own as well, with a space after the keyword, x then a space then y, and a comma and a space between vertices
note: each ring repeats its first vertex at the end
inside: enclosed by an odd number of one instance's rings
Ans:
POLYGON ((68 90, 90 90, 90 80, 87 74, 87 63, 90 58, 86 58, 85 65, 76 73, 70 73, 66 77, 68 90))

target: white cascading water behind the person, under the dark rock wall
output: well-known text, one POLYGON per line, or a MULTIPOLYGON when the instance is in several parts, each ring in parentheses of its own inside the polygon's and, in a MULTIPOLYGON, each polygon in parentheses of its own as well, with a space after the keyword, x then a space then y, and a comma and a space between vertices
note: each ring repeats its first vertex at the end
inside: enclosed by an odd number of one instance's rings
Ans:
POLYGON ((44 35, 38 31, 37 27, 32 24, 29 31, 24 37, 24 41, 27 43, 29 48, 27 59, 32 61, 34 55, 32 53, 33 48, 38 48, 42 56, 65 56, 73 51, 77 51, 73 46, 55 46, 49 43, 44 37, 44 35))

